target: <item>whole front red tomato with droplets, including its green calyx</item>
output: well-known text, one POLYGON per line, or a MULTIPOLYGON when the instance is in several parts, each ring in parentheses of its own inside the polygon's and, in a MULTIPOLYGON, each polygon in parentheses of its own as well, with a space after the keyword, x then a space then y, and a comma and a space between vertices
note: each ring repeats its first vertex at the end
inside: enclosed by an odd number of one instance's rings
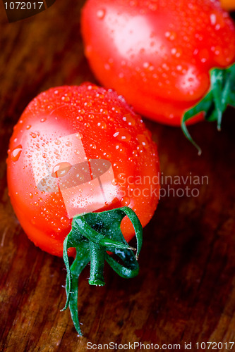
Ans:
POLYGON ((90 262, 90 284, 102 285, 105 259, 119 275, 137 275, 127 241, 136 235, 138 256, 140 222, 145 226, 157 207, 158 172, 150 132, 110 89, 49 89, 30 102, 14 127, 7 160, 11 203, 37 246, 56 256, 64 251, 66 306, 79 334, 80 271, 90 262), (70 268, 67 251, 74 248, 70 268))

